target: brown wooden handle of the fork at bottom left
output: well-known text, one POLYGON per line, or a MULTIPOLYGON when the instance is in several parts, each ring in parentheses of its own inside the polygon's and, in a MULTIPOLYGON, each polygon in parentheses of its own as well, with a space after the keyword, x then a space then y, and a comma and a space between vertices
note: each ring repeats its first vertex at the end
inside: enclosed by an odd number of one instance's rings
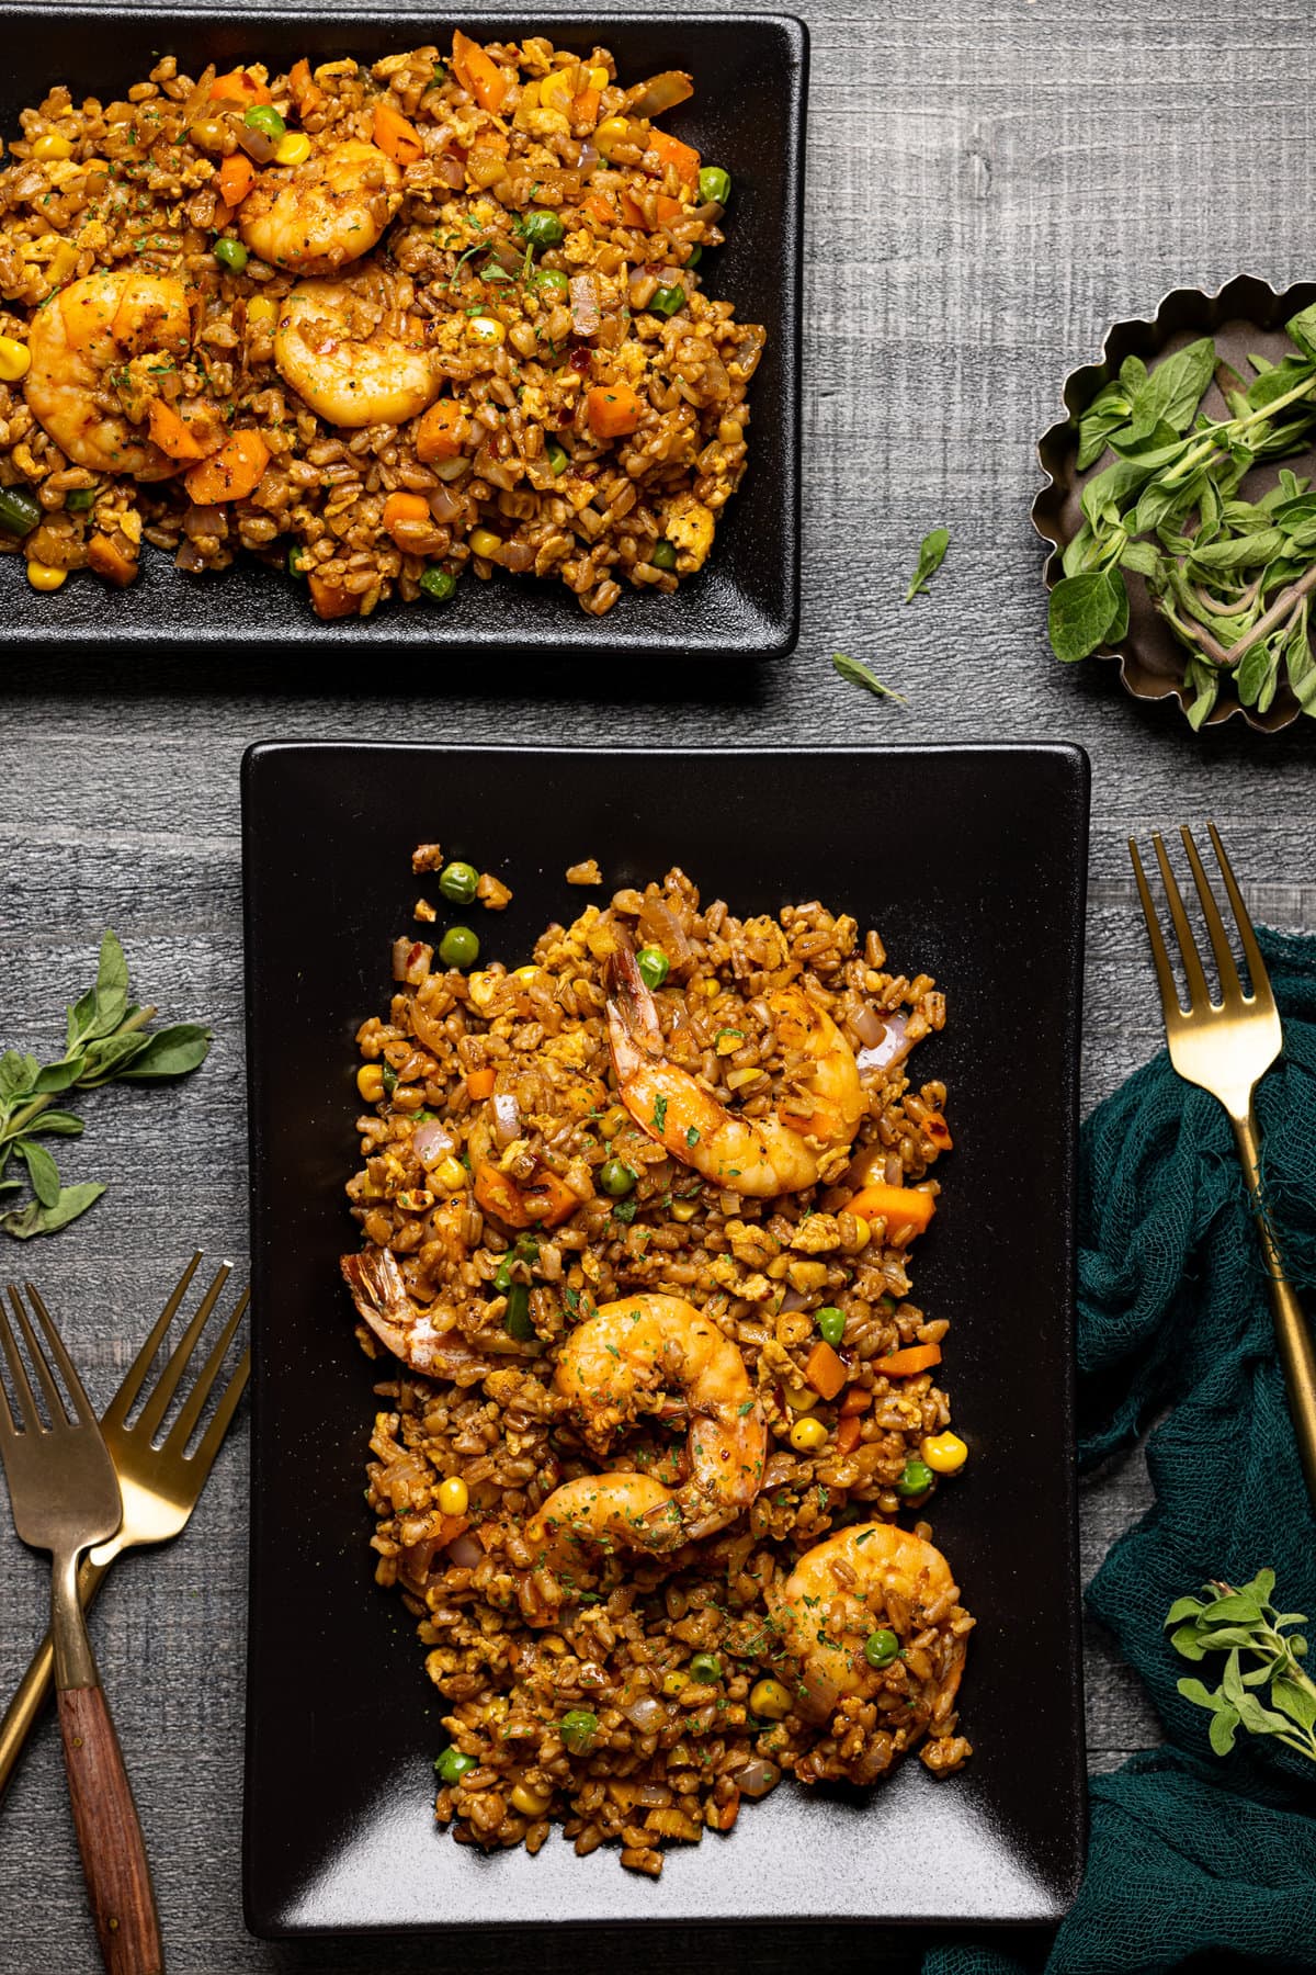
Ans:
POLYGON ((162 1975, 156 1894, 105 1689, 61 1687, 59 1732, 101 1959, 109 1975, 162 1975))

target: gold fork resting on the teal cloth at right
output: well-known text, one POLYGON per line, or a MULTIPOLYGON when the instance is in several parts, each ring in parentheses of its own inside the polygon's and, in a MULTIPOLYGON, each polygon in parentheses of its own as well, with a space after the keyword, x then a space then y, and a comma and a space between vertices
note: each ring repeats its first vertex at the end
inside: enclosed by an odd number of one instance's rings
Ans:
POLYGON ((1156 847, 1156 861, 1160 865, 1160 877, 1170 903, 1170 918, 1174 920, 1174 934, 1184 962, 1188 1009, 1180 1005, 1174 974, 1170 972, 1170 958, 1166 954, 1166 942, 1162 940, 1160 926, 1156 922, 1156 907, 1152 905, 1152 895, 1142 871, 1142 859, 1138 857, 1138 845, 1133 837, 1129 839, 1129 855, 1133 857, 1138 897, 1146 916, 1146 932, 1152 942, 1152 960, 1156 964, 1156 980, 1160 984, 1160 1005, 1164 1009, 1166 1039, 1170 1043, 1170 1063, 1186 1082, 1200 1084, 1202 1090, 1209 1090, 1211 1096, 1219 1098, 1229 1112, 1233 1140, 1239 1147, 1239 1161, 1243 1165, 1243 1179, 1247 1181, 1247 1193, 1253 1205, 1253 1219, 1257 1221, 1261 1252, 1267 1264, 1267 1284, 1271 1290, 1271 1307, 1275 1311, 1275 1337, 1279 1343, 1279 1359, 1284 1369, 1284 1384, 1288 1388, 1288 1410, 1298 1438, 1298 1460, 1302 1462, 1302 1473, 1306 1475, 1308 1495, 1316 1507, 1316 1349, 1312 1347, 1312 1333, 1306 1327, 1298 1298, 1284 1276, 1284 1264, 1280 1260, 1275 1230, 1271 1228, 1271 1219, 1261 1193, 1261 1136, 1257 1132, 1257 1114, 1253 1110, 1253 1092, 1279 1057, 1282 1033, 1279 1009, 1275 1007, 1275 993, 1271 991, 1271 978, 1267 976, 1265 960, 1261 958, 1261 948, 1257 946, 1257 936, 1247 916, 1247 907, 1243 905, 1243 895, 1233 871, 1229 869, 1229 859, 1225 857, 1215 824, 1207 824, 1206 828, 1211 837, 1211 849, 1215 851, 1219 875, 1225 881, 1225 893, 1229 895, 1229 905, 1233 908, 1233 922, 1239 928, 1239 942, 1243 946, 1247 970, 1253 978, 1251 993, 1243 993, 1239 970, 1229 948, 1229 936, 1225 934, 1219 907, 1215 903, 1215 895, 1211 893, 1207 875, 1202 869, 1202 857, 1198 855, 1198 845, 1194 843, 1192 833, 1186 828, 1180 830, 1194 885, 1198 887, 1198 899, 1202 901, 1202 916, 1206 918, 1211 952, 1215 954, 1215 968, 1219 972, 1219 1001, 1211 1001, 1206 974, 1202 972, 1202 956, 1198 954, 1192 926, 1188 924, 1188 912, 1184 910, 1184 901, 1178 885, 1174 883, 1174 871, 1170 869, 1170 859, 1166 857, 1160 833, 1152 833, 1152 845, 1156 847))

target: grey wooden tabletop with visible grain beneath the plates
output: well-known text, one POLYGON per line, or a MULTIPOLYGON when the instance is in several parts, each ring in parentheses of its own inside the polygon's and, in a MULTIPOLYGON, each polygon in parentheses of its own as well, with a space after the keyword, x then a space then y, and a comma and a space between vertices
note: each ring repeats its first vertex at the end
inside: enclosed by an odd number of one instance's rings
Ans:
MULTIPOLYGON (((1235 725, 1194 739, 1168 711, 1127 701, 1109 670, 1061 670, 1044 644, 1028 523, 1032 442, 1107 322, 1239 269, 1277 286, 1316 271, 1310 0, 815 0, 811 30, 805 608, 789 662, 675 679, 548 668, 509 679, 509 697, 487 668, 442 652, 428 677, 412 668, 389 693, 369 675, 316 693, 260 664, 225 675, 185 650, 150 679, 85 660, 18 664, 4 679, 0 1043, 51 1045, 105 924, 164 1009, 217 1031, 189 1088, 87 1104, 65 1177, 110 1177, 110 1193, 77 1230, 0 1258, 6 1274, 39 1274, 101 1398, 193 1236, 239 1266, 247 1246, 237 768, 256 737, 1079 741, 1093 760, 1089 1104, 1158 1045, 1127 833, 1215 816, 1255 914, 1316 926, 1308 733, 1267 741, 1235 725), (906 610, 902 579, 939 521, 945 571, 906 610), (835 650, 868 660, 908 707, 844 685, 835 650)), ((412 1941, 385 1957, 243 1930, 245 1428, 233 1440, 183 1540, 124 1564, 97 1616, 170 1967, 438 1967, 452 1947, 412 1941)), ((1136 1456, 1085 1485, 1085 1576, 1144 1499, 1136 1456)), ((0 1691, 26 1665, 41 1596, 39 1564, 0 1517, 0 1691)), ((1087 1695, 1093 1768, 1156 1736, 1095 1631, 1087 1695)), ((675 1934, 645 1939, 643 1955, 775 1971, 799 1945, 675 1934)), ((460 1957, 493 1969, 533 1951, 578 1971, 625 1965, 635 1947, 554 1928, 533 1947, 468 1939, 460 1957)), ((858 1965, 872 1941, 811 1937, 809 1953, 858 1965)), ((0 1971, 95 1967, 47 1726, 0 1813, 0 1971)))

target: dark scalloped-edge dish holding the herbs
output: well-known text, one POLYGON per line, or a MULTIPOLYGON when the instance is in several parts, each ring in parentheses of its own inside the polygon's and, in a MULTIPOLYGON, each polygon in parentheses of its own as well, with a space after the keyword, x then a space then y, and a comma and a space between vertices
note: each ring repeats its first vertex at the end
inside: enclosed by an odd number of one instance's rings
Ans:
MULTIPOLYGON (((1067 417, 1054 425, 1038 442, 1038 460, 1048 474, 1048 482, 1032 504, 1032 525, 1044 541, 1052 545, 1046 559, 1044 579, 1048 591, 1061 577, 1063 549, 1073 541, 1081 525, 1081 496, 1091 474, 1109 464, 1111 454, 1103 454, 1087 472, 1077 470, 1079 417, 1087 411, 1097 391, 1101 391, 1119 371, 1129 356, 1152 361, 1182 350, 1198 336, 1213 336, 1219 354, 1239 363, 1249 350, 1265 357, 1279 357, 1292 350, 1284 336, 1284 324, 1298 310, 1316 302, 1316 282, 1302 280, 1277 294, 1275 288, 1255 275, 1237 275, 1225 282, 1219 294, 1204 294, 1202 288, 1174 288, 1162 300, 1150 322, 1117 322, 1107 330, 1099 363, 1083 363, 1065 377, 1063 401, 1067 417)), ((1225 417, 1227 407, 1215 385, 1204 399, 1211 417, 1225 417)), ((1259 466, 1249 486, 1273 486, 1279 468, 1290 466, 1294 472, 1316 476, 1316 448, 1294 454, 1288 460, 1275 460, 1259 466)), ((1186 709, 1184 693, 1184 648, 1170 634, 1164 620, 1146 594, 1140 577, 1129 581, 1129 634, 1119 646, 1103 648, 1097 658, 1119 664, 1125 691, 1134 699, 1178 699, 1186 709)), ((1243 707, 1231 687, 1221 685, 1219 699, 1207 715, 1206 725, 1217 727, 1241 715, 1249 727, 1261 733, 1279 733, 1298 717, 1298 701, 1280 685, 1267 713, 1243 707)))

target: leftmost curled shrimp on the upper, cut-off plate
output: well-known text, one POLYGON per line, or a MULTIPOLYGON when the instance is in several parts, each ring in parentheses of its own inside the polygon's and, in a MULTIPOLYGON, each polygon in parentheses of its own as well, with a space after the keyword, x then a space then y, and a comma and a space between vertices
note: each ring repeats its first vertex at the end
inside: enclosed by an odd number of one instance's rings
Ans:
POLYGON ((182 280, 114 269, 83 275, 28 330, 28 409, 77 466, 136 480, 180 472, 142 429, 156 379, 187 354, 182 280))

